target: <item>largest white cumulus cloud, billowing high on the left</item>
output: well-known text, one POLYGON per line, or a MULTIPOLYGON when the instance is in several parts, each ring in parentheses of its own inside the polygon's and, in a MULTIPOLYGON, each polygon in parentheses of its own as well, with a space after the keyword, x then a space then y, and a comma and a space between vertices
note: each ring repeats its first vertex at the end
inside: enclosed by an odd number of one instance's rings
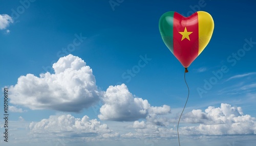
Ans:
POLYGON ((100 92, 90 66, 68 55, 53 64, 55 74, 21 76, 10 87, 10 103, 30 109, 78 112, 99 100, 100 92))

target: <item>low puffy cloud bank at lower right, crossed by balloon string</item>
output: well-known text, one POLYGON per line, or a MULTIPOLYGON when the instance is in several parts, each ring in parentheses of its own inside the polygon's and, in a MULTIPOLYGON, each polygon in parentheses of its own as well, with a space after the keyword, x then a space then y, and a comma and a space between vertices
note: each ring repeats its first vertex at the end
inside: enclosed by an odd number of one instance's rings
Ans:
MULTIPOLYGON (((134 132, 122 134, 123 138, 170 138, 177 136, 178 119, 168 119, 166 125, 157 125, 154 120, 163 120, 160 118, 146 118, 142 121, 134 121, 131 128, 134 132), (172 125, 172 123, 174 125, 172 125)), ((244 115, 241 107, 233 107, 229 104, 221 104, 220 107, 209 106, 204 111, 195 109, 184 116, 182 122, 190 126, 181 126, 179 132, 181 135, 241 135, 256 134, 256 118, 250 115, 244 115), (191 126, 192 125, 192 126, 191 126)), ((165 122, 166 122, 165 121, 165 122)), ((161 123, 165 123, 164 120, 161 123)))

